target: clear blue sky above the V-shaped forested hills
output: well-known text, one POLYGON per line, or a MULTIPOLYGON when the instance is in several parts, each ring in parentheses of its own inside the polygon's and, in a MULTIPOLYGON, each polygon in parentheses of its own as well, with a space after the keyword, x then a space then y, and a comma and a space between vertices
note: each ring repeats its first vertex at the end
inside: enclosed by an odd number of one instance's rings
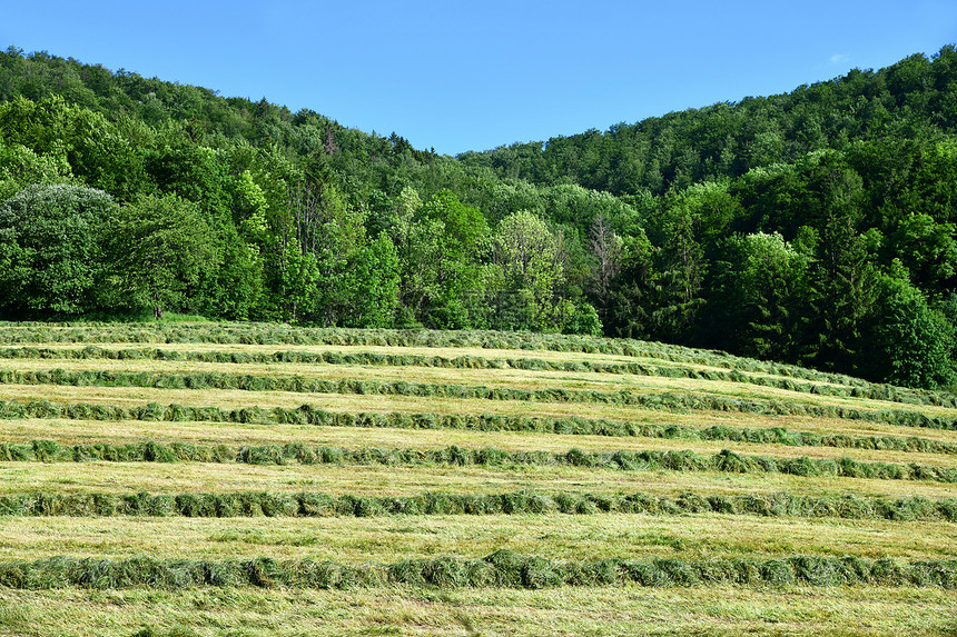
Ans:
POLYGON ((455 155, 787 92, 957 43, 957 0, 46 0, 0 47, 455 155))

